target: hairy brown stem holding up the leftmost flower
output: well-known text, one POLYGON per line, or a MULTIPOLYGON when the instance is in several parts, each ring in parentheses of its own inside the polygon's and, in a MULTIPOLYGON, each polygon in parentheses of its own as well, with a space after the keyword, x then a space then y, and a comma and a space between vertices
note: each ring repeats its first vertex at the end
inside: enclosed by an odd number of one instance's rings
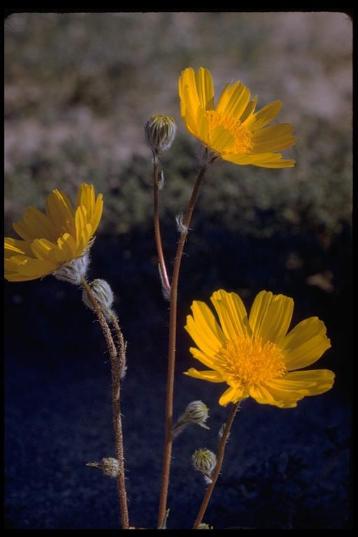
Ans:
POLYGON ((124 477, 124 456, 123 456, 123 436, 122 436, 122 418, 120 413, 120 367, 119 360, 117 359, 117 350, 113 342, 112 334, 108 327, 107 321, 99 307, 99 303, 96 301, 94 294, 92 293, 90 285, 86 282, 85 278, 82 280, 82 285, 87 293, 90 302, 94 308, 97 319, 101 326, 103 336, 106 340, 108 352, 110 355, 111 373, 112 373, 112 408, 113 408, 113 424, 115 429, 115 450, 118 461, 118 475, 117 475, 117 491, 118 499, 120 502, 120 513, 122 519, 122 528, 129 529, 129 517, 127 506, 127 492, 124 477))

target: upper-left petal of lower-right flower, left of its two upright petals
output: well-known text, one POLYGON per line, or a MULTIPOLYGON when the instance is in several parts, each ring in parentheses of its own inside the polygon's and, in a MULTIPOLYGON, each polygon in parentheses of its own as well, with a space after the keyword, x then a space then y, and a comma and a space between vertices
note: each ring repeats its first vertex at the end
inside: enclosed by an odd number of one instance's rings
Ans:
POLYGON ((215 357, 226 341, 222 330, 206 303, 194 301, 192 313, 193 317, 187 317, 185 329, 206 355, 215 357))

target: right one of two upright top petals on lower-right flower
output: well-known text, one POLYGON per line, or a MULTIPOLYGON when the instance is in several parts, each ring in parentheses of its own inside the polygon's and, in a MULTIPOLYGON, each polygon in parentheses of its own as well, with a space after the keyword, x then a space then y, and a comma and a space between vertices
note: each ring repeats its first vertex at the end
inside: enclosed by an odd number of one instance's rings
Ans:
POLYGON ((262 291, 257 294, 250 311, 252 333, 266 341, 280 342, 286 335, 292 319, 294 301, 283 294, 262 291))

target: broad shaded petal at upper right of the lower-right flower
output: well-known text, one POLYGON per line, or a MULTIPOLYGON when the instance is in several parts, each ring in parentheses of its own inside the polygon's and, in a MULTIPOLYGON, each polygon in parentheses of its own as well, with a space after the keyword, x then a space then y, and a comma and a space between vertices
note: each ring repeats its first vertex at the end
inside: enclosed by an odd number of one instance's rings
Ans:
POLYGON ((318 317, 301 321, 289 331, 281 343, 288 371, 314 364, 331 347, 326 332, 318 317))

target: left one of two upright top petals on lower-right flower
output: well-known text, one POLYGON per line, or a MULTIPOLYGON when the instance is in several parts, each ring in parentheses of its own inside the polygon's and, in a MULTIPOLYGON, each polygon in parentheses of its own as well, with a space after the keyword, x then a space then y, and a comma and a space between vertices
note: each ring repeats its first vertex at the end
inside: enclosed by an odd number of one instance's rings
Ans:
POLYGON ((240 296, 228 293, 224 289, 215 291, 210 300, 213 302, 222 331, 228 339, 234 340, 238 336, 251 335, 248 324, 248 314, 240 296))

